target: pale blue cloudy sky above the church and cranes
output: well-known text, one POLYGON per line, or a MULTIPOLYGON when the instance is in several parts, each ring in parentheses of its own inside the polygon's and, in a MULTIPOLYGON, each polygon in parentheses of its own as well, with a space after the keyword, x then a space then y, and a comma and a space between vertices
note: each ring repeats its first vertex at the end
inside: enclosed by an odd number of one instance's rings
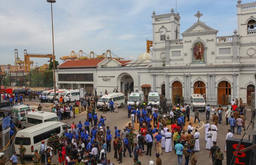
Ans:
MULTIPOLYGON (((125 59, 146 51, 152 39, 152 11, 175 10, 175 0, 56 0, 53 3, 55 55, 68 56, 72 50, 98 55, 110 49, 125 59)), ((243 0, 242 3, 254 2, 243 0)), ((236 0, 177 0, 181 33, 197 21, 219 30, 218 36, 237 29, 236 0)), ((24 59, 28 53, 52 53, 50 3, 46 0, 0 0, 0 64, 14 64, 14 49, 24 59)), ((176 11, 175 11, 176 12, 176 11)), ((48 59, 32 58, 39 65, 48 59)))

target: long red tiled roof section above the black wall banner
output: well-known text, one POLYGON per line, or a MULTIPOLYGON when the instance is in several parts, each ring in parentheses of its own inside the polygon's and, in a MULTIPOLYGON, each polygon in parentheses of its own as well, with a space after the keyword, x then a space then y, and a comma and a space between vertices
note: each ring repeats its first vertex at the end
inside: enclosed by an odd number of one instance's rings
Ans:
POLYGON ((77 61, 65 61, 60 64, 58 67, 97 67, 104 59, 84 59, 84 60, 77 60, 77 61))

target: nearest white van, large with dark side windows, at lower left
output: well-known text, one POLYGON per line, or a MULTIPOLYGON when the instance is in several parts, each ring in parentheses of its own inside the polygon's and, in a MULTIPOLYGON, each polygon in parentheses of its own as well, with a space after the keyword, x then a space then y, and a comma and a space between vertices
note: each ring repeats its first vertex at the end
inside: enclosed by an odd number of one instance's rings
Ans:
POLYGON ((17 132, 14 140, 15 151, 18 154, 19 144, 23 143, 23 146, 26 148, 25 156, 32 157, 36 149, 38 152, 40 151, 42 140, 47 141, 52 133, 57 133, 58 136, 61 136, 65 129, 69 131, 71 130, 70 128, 66 123, 46 122, 20 130, 17 132))

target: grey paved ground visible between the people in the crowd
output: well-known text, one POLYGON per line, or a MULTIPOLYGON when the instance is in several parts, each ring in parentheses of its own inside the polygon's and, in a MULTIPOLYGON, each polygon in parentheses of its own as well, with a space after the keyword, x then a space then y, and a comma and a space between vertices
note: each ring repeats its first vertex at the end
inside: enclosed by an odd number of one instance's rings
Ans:
MULTIPOLYGON (((26 99, 25 103, 29 103, 32 107, 36 108, 39 104, 39 101, 36 100, 32 100, 32 102, 28 102, 28 100, 26 99)), ((50 108, 48 108, 48 106, 50 106, 50 103, 47 104, 41 104, 43 107, 43 111, 48 111, 50 112, 50 108)), ((110 113, 109 111, 107 112, 107 114, 103 114, 103 112, 101 110, 96 110, 98 116, 100 115, 104 115, 106 117, 106 126, 110 127, 111 133, 112 135, 114 135, 114 126, 117 126, 118 129, 122 130, 123 127, 125 127, 125 125, 130 122, 131 119, 128 119, 127 116, 127 110, 125 107, 118 109, 118 113, 110 113)), ((250 110, 247 111, 247 120, 246 120, 246 127, 248 126, 249 123, 249 119, 250 119, 250 110)), ((191 112, 191 117, 194 116, 194 112, 191 112)), ((201 127, 199 127, 199 133, 200 133, 200 151, 196 152, 196 156, 198 157, 198 163, 197 165, 206 165, 212 164, 211 159, 209 159, 209 150, 205 149, 206 147, 206 142, 204 141, 204 133, 205 133, 205 129, 204 129, 204 123, 206 121, 206 117, 205 117, 205 112, 200 113, 199 118, 201 120, 201 127)), ((82 121, 82 123, 84 122, 84 120, 86 119, 86 113, 83 114, 77 114, 75 119, 70 119, 70 120, 62 120, 62 122, 67 123, 69 125, 71 125, 72 122, 75 122, 76 124, 79 122, 79 120, 82 121)), ((190 120, 192 121, 192 120, 190 120)), ((193 121, 192 121, 193 122, 193 121)), ((217 135, 217 146, 219 146, 221 148, 221 151, 225 150, 225 137, 227 134, 227 129, 229 129, 230 127, 224 124, 224 120, 222 121, 223 124, 218 125, 218 135, 217 135)), ((212 124, 212 122, 209 122, 210 124, 212 124)), ((251 129, 251 126, 250 128, 251 129)), ((91 128, 90 128, 91 130, 91 128)), ((236 132, 236 130, 235 130, 236 132)), ((242 131, 243 133, 243 131, 242 131)), ((234 138, 238 138, 240 139, 242 137, 242 135, 234 135, 234 138)), ((245 139, 248 139, 247 136, 245 136, 245 139)), ((137 140, 134 140, 135 143, 137 143, 137 140)), ((145 147, 146 148, 146 147, 145 147)), ((127 151, 126 151, 127 152, 127 151)), ((169 152, 169 153, 165 153, 164 150, 162 150, 163 155, 160 155, 160 158, 162 159, 162 164, 163 165, 175 165, 177 164, 177 156, 174 154, 174 151, 169 152)), ((154 162, 156 162, 156 157, 155 157, 156 151, 155 151, 155 147, 152 147, 152 156, 147 156, 145 155, 145 153, 143 153, 143 157, 139 157, 139 161, 142 162, 143 165, 147 165, 149 160, 153 160, 154 162)), ((126 155, 128 155, 128 153, 126 153, 126 155)), ((133 154, 132 154, 133 155, 133 154)), ((111 149, 110 153, 107 153, 107 157, 108 159, 110 159, 111 162, 117 164, 118 162, 113 158, 114 156, 114 151, 113 151, 113 147, 111 149)), ((52 162, 53 163, 57 163, 57 156, 53 157, 52 162)), ((184 164, 185 163, 185 158, 183 157, 183 161, 184 164)), ((31 159, 26 159, 26 163, 32 163, 31 159)), ((133 164, 133 158, 123 158, 123 165, 131 165, 133 164)), ((190 163, 189 163, 190 164, 190 163)), ((224 153, 224 161, 223 164, 226 164, 226 153, 224 153)))

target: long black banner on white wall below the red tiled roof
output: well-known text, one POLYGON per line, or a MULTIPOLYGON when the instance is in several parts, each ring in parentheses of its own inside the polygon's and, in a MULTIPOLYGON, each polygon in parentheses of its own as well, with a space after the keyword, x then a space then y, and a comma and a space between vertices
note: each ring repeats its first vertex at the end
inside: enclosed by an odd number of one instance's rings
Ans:
POLYGON ((59 81, 93 81, 93 73, 58 74, 59 81))

